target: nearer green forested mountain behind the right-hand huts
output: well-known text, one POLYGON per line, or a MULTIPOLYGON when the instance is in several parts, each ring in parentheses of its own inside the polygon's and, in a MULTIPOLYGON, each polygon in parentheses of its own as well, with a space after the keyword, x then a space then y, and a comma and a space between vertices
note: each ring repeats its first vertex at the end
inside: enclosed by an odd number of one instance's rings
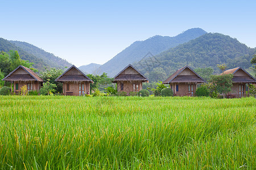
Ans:
MULTIPOLYGON (((212 67, 215 73, 220 73, 217 64, 226 63, 227 69, 234 67, 251 67, 250 60, 256 49, 249 48, 237 39, 221 33, 207 33, 175 48, 168 49, 159 55, 142 59, 135 66, 152 80, 159 75, 165 78, 180 67, 189 65, 192 69, 212 67), (151 62, 154 61, 154 62, 151 62), (143 64, 147 63, 147 64, 143 64)), ((162 79, 159 79, 162 81, 162 79)))

